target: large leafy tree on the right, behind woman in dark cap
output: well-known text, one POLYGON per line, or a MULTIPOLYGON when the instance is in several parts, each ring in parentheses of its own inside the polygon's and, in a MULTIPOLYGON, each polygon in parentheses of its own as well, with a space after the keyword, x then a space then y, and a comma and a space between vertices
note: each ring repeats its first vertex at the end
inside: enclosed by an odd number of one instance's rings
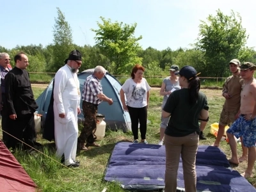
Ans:
POLYGON ((223 77, 228 72, 227 63, 239 56, 247 38, 239 13, 232 11, 228 16, 218 10, 215 17, 209 15, 206 22, 201 21, 195 47, 204 52, 205 75, 223 77))

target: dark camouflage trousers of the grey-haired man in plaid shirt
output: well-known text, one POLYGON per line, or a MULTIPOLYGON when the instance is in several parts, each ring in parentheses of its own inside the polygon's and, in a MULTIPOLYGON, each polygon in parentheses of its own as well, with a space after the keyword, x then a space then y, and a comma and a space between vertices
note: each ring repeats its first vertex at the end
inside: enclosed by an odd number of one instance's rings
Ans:
POLYGON ((96 140, 98 106, 83 100, 84 127, 78 137, 78 143, 93 143, 96 140))

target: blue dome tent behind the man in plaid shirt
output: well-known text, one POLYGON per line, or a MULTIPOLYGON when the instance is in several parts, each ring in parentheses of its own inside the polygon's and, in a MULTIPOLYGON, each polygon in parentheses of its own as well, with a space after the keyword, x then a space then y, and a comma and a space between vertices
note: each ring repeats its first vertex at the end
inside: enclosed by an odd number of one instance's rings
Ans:
MULTIPOLYGON (((83 85, 85 79, 93 74, 94 69, 84 70, 83 72, 78 74, 78 79, 80 83, 80 90, 83 91, 83 85)), ((36 99, 36 103, 38 104, 38 113, 42 114, 42 128, 44 129, 45 117, 47 115, 47 109, 49 107, 51 94, 52 94, 52 83, 47 86, 44 92, 36 99)), ((124 131, 131 130, 131 118, 129 113, 124 112, 122 109, 122 102, 120 100, 120 82, 108 72, 106 76, 101 79, 101 84, 103 88, 103 93, 113 99, 113 105, 109 106, 108 102, 102 102, 98 106, 98 113, 105 115, 104 121, 111 129, 122 129, 124 131)), ((82 102, 80 102, 80 108, 82 109, 82 102)), ((83 111, 78 116, 78 121, 83 122, 83 111)))

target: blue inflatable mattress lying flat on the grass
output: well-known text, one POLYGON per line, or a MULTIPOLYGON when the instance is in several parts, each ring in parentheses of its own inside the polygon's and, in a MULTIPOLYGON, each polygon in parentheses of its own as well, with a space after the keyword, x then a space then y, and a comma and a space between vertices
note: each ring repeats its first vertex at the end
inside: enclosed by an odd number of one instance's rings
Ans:
MULTIPOLYGON (((157 191, 164 188, 165 147, 141 143, 116 143, 106 168, 106 181, 115 181, 124 189, 157 191)), ((198 191, 256 191, 239 172, 232 170, 218 147, 198 146, 196 155, 198 191)), ((178 191, 184 190, 180 159, 178 191)))

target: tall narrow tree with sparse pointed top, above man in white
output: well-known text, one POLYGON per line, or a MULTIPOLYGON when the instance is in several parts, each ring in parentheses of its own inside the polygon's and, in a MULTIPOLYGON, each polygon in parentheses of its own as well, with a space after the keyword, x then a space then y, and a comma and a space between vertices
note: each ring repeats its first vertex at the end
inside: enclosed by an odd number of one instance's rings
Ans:
POLYGON ((68 54, 74 49, 70 25, 65 20, 65 15, 61 12, 60 8, 57 8, 57 10, 58 17, 54 18, 55 24, 53 28, 52 72, 56 72, 58 68, 63 66, 65 59, 68 58, 68 54))

